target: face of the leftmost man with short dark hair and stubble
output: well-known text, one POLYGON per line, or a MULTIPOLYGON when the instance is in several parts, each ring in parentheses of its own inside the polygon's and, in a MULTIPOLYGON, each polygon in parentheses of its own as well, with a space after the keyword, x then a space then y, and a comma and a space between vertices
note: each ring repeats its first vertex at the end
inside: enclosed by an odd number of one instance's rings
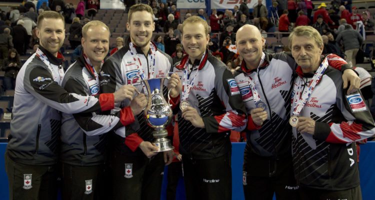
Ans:
POLYGON ((60 18, 43 18, 36 28, 36 35, 40 45, 57 56, 65 38, 64 22, 60 18))

